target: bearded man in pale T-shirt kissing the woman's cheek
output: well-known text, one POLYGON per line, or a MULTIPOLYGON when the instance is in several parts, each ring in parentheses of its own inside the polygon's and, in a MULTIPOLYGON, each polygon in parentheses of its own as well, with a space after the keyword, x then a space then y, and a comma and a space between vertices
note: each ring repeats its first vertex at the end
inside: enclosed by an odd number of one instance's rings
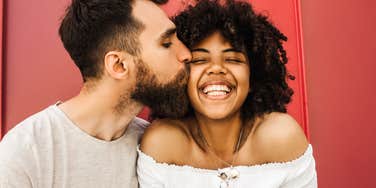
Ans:
POLYGON ((60 25, 80 93, 27 118, 0 142, 0 187, 138 186, 136 146, 154 115, 187 109, 188 49, 150 0, 73 0, 60 25), (178 101, 177 101, 178 100, 178 101))

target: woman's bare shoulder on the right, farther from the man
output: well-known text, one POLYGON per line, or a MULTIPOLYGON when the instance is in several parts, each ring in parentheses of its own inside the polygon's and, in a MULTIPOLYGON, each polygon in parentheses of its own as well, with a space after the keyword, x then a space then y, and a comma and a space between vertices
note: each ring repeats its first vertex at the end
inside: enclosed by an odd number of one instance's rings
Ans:
POLYGON ((255 128, 252 147, 268 162, 286 162, 301 156, 307 138, 295 119, 286 114, 266 114, 255 128))

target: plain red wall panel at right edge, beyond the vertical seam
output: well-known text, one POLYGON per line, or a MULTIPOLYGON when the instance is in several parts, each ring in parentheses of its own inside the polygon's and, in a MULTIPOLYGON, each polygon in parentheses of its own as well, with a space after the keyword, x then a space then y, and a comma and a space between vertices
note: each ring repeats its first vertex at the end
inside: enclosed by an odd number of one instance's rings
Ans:
POLYGON ((302 1, 320 188, 376 187, 376 1, 302 1))

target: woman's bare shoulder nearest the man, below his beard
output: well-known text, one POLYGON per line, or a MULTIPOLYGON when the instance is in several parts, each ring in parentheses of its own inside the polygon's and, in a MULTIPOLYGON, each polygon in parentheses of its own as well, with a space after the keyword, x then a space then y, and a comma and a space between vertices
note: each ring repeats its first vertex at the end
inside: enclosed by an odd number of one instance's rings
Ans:
POLYGON ((145 130, 140 149, 157 162, 174 163, 189 152, 189 132, 182 120, 158 119, 145 130))

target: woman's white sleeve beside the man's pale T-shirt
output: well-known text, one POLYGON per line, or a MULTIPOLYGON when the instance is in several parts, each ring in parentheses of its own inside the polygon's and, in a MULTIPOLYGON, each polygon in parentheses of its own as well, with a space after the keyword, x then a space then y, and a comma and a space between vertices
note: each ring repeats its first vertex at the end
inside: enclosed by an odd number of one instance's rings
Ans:
POLYGON ((163 169, 156 161, 138 149, 137 175, 140 188, 165 188, 163 169))

